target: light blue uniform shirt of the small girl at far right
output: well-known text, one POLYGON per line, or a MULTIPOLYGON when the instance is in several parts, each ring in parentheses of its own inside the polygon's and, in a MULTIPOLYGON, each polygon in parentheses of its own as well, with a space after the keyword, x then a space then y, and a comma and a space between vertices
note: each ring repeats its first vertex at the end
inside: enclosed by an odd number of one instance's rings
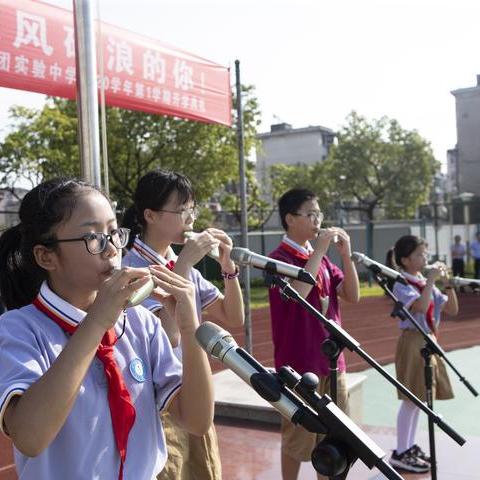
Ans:
MULTIPOLYGON (((423 275, 418 277, 414 275, 410 275, 407 272, 402 271, 402 275, 407 279, 414 282, 426 282, 426 278, 423 275)), ((415 288, 413 285, 403 285, 399 282, 395 282, 393 285, 393 293, 398 298, 400 302, 408 309, 412 305, 412 303, 420 298, 421 292, 415 288)), ((437 287, 433 287, 432 290, 432 300, 433 300, 433 322, 435 327, 438 327, 440 323, 440 313, 442 310, 442 305, 448 300, 448 297, 444 295, 437 287)), ((420 324, 420 326, 427 332, 432 333, 432 330, 428 326, 427 317, 424 313, 420 312, 411 312, 413 318, 420 324)), ((408 319, 406 320, 399 320, 400 329, 402 330, 416 330, 415 325, 408 319)))

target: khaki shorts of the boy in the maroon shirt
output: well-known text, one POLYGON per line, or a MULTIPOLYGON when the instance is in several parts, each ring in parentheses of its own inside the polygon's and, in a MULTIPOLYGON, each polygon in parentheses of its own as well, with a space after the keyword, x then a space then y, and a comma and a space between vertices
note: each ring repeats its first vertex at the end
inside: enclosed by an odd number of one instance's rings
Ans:
MULTIPOLYGON (((320 377, 317 392, 320 395, 330 393, 330 377, 320 377)), ((348 415, 348 390, 345 373, 337 378, 337 405, 348 415)), ((312 450, 325 435, 311 433, 305 428, 294 425, 282 417, 282 454, 294 458, 298 462, 309 462, 312 450)))

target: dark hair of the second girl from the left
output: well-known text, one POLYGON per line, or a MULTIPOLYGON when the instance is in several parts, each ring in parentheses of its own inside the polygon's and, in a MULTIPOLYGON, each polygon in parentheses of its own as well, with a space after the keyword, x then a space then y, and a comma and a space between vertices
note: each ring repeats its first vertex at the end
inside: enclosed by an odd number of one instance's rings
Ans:
POLYGON ((135 189, 133 205, 127 209, 122 220, 122 226, 131 230, 127 248, 133 245, 137 235, 144 233, 147 224, 143 212, 147 208, 161 210, 172 193, 177 194, 179 205, 195 201, 192 183, 181 173, 157 168, 140 178, 135 189))

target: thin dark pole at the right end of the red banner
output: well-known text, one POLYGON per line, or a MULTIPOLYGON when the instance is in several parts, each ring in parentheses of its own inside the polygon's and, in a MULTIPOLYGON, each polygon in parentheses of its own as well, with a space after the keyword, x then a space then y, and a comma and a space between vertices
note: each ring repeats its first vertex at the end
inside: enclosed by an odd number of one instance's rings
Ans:
MULTIPOLYGON (((235 83, 237 91, 237 144, 240 174, 240 228, 242 232, 242 247, 248 248, 248 218, 247 218, 247 176, 245 174, 245 156, 243 152, 243 111, 242 87, 240 84, 240 61, 235 60, 235 83)), ((252 319, 250 315, 250 270, 242 268, 243 302, 245 306, 245 348, 252 353, 252 319)))

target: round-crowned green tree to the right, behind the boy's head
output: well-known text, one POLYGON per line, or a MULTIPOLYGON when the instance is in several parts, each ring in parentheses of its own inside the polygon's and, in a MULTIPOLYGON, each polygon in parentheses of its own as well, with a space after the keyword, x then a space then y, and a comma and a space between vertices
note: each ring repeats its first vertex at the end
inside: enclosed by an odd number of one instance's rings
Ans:
POLYGON ((331 192, 373 220, 377 207, 388 218, 410 218, 428 199, 439 162, 415 130, 382 117, 368 122, 352 112, 325 161, 331 192))

